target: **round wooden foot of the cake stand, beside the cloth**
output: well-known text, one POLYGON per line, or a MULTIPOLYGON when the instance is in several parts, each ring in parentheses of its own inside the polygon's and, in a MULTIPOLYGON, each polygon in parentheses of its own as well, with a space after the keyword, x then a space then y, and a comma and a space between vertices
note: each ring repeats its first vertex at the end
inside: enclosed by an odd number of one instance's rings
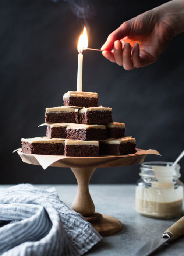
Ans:
POLYGON ((89 217, 85 217, 85 219, 90 222, 93 228, 102 236, 116 234, 122 229, 122 224, 118 219, 97 212, 89 217))

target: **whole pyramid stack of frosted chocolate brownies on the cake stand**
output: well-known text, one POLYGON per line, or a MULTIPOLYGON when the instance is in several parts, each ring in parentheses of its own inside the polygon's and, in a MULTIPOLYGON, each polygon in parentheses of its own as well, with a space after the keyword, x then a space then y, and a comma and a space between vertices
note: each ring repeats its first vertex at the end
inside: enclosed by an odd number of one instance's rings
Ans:
POLYGON ((22 139, 22 152, 72 157, 136 152, 135 139, 125 137, 125 124, 113 122, 112 108, 98 107, 97 93, 69 91, 63 101, 62 107, 46 108, 46 137, 22 139))

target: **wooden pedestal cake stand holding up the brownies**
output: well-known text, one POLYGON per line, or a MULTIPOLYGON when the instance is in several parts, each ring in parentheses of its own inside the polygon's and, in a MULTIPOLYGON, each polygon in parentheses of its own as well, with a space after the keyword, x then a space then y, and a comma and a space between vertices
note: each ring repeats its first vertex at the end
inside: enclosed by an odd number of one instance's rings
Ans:
MULTIPOLYGON (((140 149, 137 149, 139 152, 140 149)), ((40 165, 35 155, 25 154, 17 151, 22 161, 28 164, 40 165)), ((70 167, 74 173, 78 190, 72 203, 72 210, 81 213, 92 226, 102 235, 116 234, 122 229, 122 224, 114 217, 102 215, 95 212, 95 206, 89 194, 89 180, 97 167, 117 167, 136 165, 144 162, 147 154, 132 154, 121 156, 100 156, 100 157, 64 157, 50 166, 70 167)))

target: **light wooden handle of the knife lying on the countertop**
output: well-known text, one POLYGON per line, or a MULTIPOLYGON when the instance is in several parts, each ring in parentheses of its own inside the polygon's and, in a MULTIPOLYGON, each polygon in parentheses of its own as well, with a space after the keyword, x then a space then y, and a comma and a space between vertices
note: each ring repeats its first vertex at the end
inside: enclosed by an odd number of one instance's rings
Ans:
MULTIPOLYGON (((170 228, 168 228, 164 234, 169 235, 170 241, 173 241, 181 235, 184 235, 184 216, 176 221, 170 228)), ((162 237, 164 237, 164 234, 162 237)))

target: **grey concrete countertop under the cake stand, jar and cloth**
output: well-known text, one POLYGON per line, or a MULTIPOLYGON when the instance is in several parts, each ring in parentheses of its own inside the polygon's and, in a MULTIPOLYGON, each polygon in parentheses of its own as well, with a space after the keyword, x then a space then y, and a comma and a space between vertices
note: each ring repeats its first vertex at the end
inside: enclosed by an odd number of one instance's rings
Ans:
MULTIPOLYGON (((10 187, 11 185, 0 185, 10 187)), ((59 198, 71 207, 77 185, 35 185, 41 189, 56 187, 59 198)), ((104 237, 86 253, 89 256, 131 256, 151 239, 161 238, 164 231, 180 217, 171 219, 147 218, 135 211, 135 185, 89 185, 96 211, 113 216, 123 224, 122 230, 104 237)), ((166 243, 153 256, 183 256, 184 236, 166 243)))

